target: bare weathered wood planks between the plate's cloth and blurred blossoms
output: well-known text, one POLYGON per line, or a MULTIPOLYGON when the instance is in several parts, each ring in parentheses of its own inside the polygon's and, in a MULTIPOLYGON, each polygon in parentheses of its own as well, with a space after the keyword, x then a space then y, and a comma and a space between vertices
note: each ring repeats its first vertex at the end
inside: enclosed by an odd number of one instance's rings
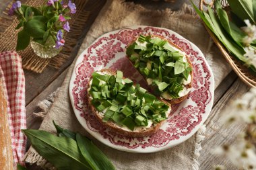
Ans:
MULTIPOLYGON (((226 85, 225 81, 222 84, 226 85)), ((222 87, 223 89, 223 87, 222 87)), ((217 89, 223 91, 222 89, 217 89)), ((249 90, 249 87, 245 85, 240 79, 236 79, 232 83, 228 91, 224 92, 224 95, 218 100, 216 105, 209 116, 206 125, 205 140, 203 140, 201 146, 201 156, 199 157, 200 169, 213 169, 215 165, 225 165, 227 169, 237 169, 230 163, 230 161, 224 157, 219 157, 212 153, 213 149, 223 144, 232 144, 236 138, 236 134, 242 132, 245 129, 245 124, 232 124, 225 126, 222 122, 222 116, 229 114, 230 103, 241 97, 249 90)))

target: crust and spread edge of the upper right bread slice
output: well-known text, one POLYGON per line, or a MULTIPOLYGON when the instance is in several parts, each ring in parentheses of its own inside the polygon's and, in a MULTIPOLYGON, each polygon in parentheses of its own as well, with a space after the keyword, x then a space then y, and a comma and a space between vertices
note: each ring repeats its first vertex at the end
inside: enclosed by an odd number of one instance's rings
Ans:
MULTIPOLYGON (((158 37, 158 38, 161 38, 162 40, 166 40, 165 38, 161 37, 161 36, 156 36, 156 35, 151 35, 152 37, 158 37)), ((137 39, 136 39, 137 40, 137 39)), ((134 40, 133 42, 131 42, 131 44, 133 44, 136 40, 134 40)), ((170 46, 173 46, 175 48, 178 48, 181 52, 184 52, 179 46, 177 46, 177 44, 174 44, 173 42, 170 42, 169 40, 166 40, 170 46)), ((131 44, 129 44, 128 46, 130 46, 131 44)), ((191 88, 192 88, 192 83, 193 83, 193 65, 191 63, 191 60, 190 60, 190 57, 185 54, 186 58, 187 58, 187 62, 189 63, 190 67, 192 68, 192 71, 190 73, 190 76, 191 76, 191 81, 189 84, 187 85, 184 85, 184 88, 187 90, 187 91, 191 91, 191 88)), ((129 59, 129 56, 127 56, 127 58, 129 59)), ((131 60, 129 60, 131 62, 131 60)), ((133 65, 133 62, 131 62, 131 64, 133 65)), ((137 71, 139 71, 139 69, 137 69, 137 71)), ((142 75, 143 79, 146 81, 147 78, 145 75, 142 75)), ((147 81, 146 81, 147 82, 147 81)), ((149 85, 150 88, 152 89, 152 91, 154 91, 154 88, 152 85, 149 85)), ((161 97, 159 96, 162 101, 166 101, 167 103, 170 103, 170 104, 175 104, 175 103, 181 103, 183 100, 187 99, 188 95, 189 95, 189 92, 186 93, 185 95, 182 95, 180 96, 179 98, 172 98, 172 99, 165 99, 164 97, 161 97)))

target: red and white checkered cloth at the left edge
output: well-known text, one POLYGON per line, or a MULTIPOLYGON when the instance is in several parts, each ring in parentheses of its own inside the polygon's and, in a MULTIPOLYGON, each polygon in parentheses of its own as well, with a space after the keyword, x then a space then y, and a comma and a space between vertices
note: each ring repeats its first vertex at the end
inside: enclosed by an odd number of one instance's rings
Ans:
POLYGON ((22 163, 26 145, 26 137, 21 132, 21 129, 26 129, 25 78, 22 58, 17 52, 0 53, 0 79, 3 79, 7 97, 13 161, 22 163))

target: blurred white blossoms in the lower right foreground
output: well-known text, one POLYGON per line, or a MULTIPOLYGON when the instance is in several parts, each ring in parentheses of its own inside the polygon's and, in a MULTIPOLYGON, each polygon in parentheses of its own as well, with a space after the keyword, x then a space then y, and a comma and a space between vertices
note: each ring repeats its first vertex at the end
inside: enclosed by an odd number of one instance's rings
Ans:
POLYGON ((231 108, 225 122, 245 122, 248 124, 247 130, 236 136, 236 144, 220 146, 214 153, 225 155, 240 169, 256 169, 256 88, 237 99, 231 108))

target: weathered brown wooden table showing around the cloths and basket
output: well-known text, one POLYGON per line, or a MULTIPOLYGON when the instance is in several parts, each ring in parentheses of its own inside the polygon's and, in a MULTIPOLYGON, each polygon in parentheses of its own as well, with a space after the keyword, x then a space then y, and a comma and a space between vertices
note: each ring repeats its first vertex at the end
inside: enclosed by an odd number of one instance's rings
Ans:
MULTIPOLYGON (((0 11, 5 9, 5 6, 10 0, 0 0, 0 11)), ((179 0, 175 3, 165 3, 164 1, 152 2, 148 0, 137 0, 135 3, 140 3, 141 5, 154 9, 164 9, 166 7, 172 10, 177 10, 183 5, 183 3, 189 3, 188 0, 179 0), (152 5, 153 3, 153 5, 152 5)), ((33 112, 38 112, 36 104, 43 99, 46 99, 53 91, 61 86, 61 83, 65 79, 67 70, 69 69, 71 62, 75 58, 79 46, 86 36, 86 33, 92 26, 94 19, 98 15, 100 9, 103 7, 105 0, 90 0, 86 9, 90 11, 90 17, 88 22, 84 26, 84 32, 77 40, 77 45, 75 46, 69 59, 63 64, 60 69, 53 69, 47 67, 43 73, 37 74, 32 71, 24 71, 26 77, 26 114, 27 114, 27 124, 28 128, 37 129, 40 126, 42 120, 33 116, 33 112)), ((232 99, 239 95, 242 95, 249 90, 242 81, 238 79, 236 74, 231 71, 229 75, 222 81, 222 83, 217 87, 214 97, 214 108, 209 118, 205 122, 207 131, 205 133, 205 140, 203 140, 201 146, 203 148, 214 148, 218 145, 224 143, 234 142, 234 134, 241 132, 245 128, 245 124, 235 124, 231 128, 226 128, 220 120, 220 116, 224 113, 228 103, 232 99)), ((202 149, 201 156, 199 157, 200 169, 212 169, 214 165, 226 165, 227 169, 236 169, 233 167, 228 159, 223 157, 218 157, 212 155, 210 149, 202 149)), ((30 169, 35 169, 30 167, 30 169)))

